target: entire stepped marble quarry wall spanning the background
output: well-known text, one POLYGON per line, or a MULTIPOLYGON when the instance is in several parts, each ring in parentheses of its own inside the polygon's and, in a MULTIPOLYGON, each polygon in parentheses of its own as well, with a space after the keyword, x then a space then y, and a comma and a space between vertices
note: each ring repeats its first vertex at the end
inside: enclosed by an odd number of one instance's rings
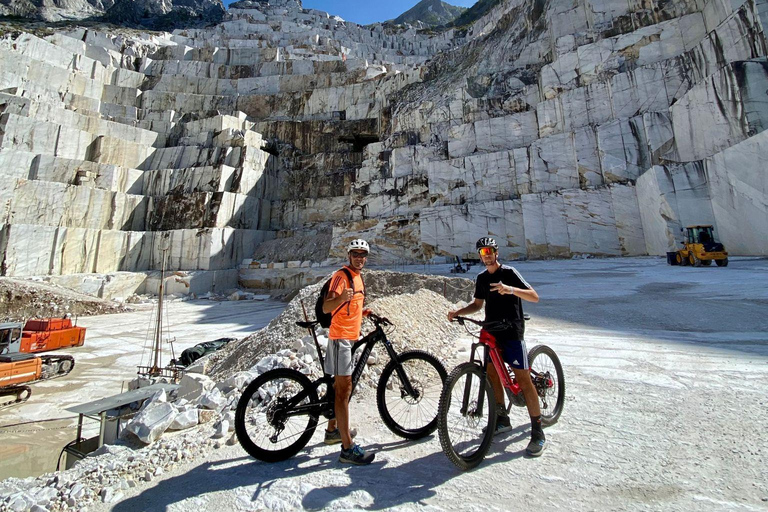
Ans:
POLYGON ((485 235, 509 259, 661 255, 692 223, 768 255, 765 23, 768 0, 505 0, 431 34, 277 0, 6 34, 0 270, 231 280, 355 237, 372 263, 485 235))

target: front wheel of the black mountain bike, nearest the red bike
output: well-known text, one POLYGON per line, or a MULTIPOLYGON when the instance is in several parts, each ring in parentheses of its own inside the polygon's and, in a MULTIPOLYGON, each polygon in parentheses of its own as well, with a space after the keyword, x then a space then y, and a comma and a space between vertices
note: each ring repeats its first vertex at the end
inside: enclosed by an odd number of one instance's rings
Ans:
POLYGON ((381 372, 376 389, 376 405, 384 424, 405 439, 420 439, 437 428, 440 393, 448 372, 435 356, 421 350, 410 350, 390 361, 381 372), (419 397, 408 395, 400 381, 397 363, 403 366, 411 386, 419 397), (413 363, 426 363, 417 366, 413 363))

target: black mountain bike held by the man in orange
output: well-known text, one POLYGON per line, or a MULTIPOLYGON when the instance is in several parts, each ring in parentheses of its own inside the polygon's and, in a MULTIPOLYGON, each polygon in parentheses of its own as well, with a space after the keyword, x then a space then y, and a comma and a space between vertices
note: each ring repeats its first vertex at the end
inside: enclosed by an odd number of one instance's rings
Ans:
MULTIPOLYGON (((368 318, 374 329, 352 347, 353 358, 363 347, 352 371, 352 393, 371 351, 382 343, 390 361, 381 372, 376 391, 381 419, 405 439, 431 434, 437 428, 438 402, 447 375, 445 367, 435 356, 421 350, 398 354, 383 328, 393 324, 378 315, 368 318)), ((315 332, 317 324, 296 322, 311 332, 324 368, 315 332)), ((251 456, 264 462, 278 462, 296 455, 309 442, 320 416, 334 417, 333 376, 324 373, 310 381, 297 370, 276 368, 257 377, 243 391, 235 412, 235 432, 251 456)))

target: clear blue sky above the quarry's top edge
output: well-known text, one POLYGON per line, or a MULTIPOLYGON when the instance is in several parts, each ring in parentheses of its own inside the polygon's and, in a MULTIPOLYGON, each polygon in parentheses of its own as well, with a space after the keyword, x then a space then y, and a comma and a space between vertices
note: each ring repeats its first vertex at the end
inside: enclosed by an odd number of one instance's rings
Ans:
MULTIPOLYGON (((446 3, 472 7, 476 1, 448 0, 446 3)), ((230 3, 229 0, 224 0, 224 4, 230 3)), ((419 0, 302 0, 301 2, 305 9, 325 11, 360 25, 397 18, 417 3, 419 0)))

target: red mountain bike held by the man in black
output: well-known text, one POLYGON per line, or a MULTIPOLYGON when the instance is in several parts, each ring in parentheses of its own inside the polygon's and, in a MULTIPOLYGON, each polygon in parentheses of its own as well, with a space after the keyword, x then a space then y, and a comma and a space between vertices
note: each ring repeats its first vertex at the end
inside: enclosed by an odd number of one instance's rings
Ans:
MULTIPOLYGON (((527 320, 529 317, 525 315, 527 320)), ((440 396, 438 434, 443 452, 459 469, 472 469, 485 458, 496 430, 496 396, 488 380, 488 363, 496 368, 509 405, 524 407, 525 397, 519 383, 501 358, 496 338, 490 331, 505 329, 506 321, 481 322, 472 318, 455 317, 467 332, 479 338, 472 344, 469 362, 454 368, 445 381, 440 396), (480 334, 470 332, 465 322, 482 327, 480 334), (477 354, 483 348, 483 357, 477 354)), ((565 378, 555 351, 546 345, 536 345, 528 351, 536 393, 541 406, 541 423, 553 425, 563 412, 565 378)))

